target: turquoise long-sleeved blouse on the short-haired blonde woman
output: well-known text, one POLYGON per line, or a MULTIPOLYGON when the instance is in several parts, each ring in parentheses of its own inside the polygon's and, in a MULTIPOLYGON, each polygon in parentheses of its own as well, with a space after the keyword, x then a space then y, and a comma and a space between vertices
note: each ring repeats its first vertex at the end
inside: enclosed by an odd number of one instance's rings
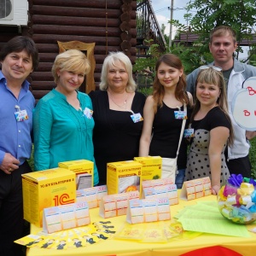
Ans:
POLYGON ((89 96, 77 93, 79 110, 55 89, 38 101, 33 110, 34 166, 41 171, 55 168, 61 161, 91 160, 96 185, 99 177, 92 143, 94 119, 84 114, 85 108, 92 110, 92 104, 89 96))

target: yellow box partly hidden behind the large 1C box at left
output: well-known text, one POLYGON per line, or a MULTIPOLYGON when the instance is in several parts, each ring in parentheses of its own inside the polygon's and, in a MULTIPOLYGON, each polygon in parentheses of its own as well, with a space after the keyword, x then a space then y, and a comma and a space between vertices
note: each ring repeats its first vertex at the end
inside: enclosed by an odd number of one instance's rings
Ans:
POLYGON ((59 167, 76 173, 77 189, 88 189, 93 187, 94 163, 90 160, 72 160, 60 162, 59 167))

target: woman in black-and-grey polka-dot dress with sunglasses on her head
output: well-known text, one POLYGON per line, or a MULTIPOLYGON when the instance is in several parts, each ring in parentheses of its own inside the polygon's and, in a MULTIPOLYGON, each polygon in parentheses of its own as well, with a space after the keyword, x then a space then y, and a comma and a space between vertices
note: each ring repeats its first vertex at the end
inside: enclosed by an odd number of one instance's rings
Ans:
POLYGON ((234 135, 227 108, 224 77, 220 67, 202 66, 195 83, 195 108, 191 115, 192 140, 186 180, 210 177, 212 194, 230 177, 224 149, 234 135))

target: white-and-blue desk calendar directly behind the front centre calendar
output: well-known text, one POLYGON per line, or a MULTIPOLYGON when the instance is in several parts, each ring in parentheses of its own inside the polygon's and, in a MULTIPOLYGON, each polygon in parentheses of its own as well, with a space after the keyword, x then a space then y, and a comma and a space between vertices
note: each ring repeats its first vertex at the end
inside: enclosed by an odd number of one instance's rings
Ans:
POLYGON ((176 184, 167 184, 156 186, 154 188, 145 188, 143 189, 143 196, 145 199, 167 197, 169 199, 170 206, 178 204, 176 184))

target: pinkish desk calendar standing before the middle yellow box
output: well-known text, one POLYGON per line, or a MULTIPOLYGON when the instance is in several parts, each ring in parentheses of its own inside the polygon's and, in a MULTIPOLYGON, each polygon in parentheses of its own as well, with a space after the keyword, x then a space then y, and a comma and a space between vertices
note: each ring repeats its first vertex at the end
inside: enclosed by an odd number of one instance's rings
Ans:
POLYGON ((128 201, 139 198, 139 191, 131 191, 114 195, 105 195, 100 202, 100 216, 111 218, 125 215, 127 212, 128 201))

